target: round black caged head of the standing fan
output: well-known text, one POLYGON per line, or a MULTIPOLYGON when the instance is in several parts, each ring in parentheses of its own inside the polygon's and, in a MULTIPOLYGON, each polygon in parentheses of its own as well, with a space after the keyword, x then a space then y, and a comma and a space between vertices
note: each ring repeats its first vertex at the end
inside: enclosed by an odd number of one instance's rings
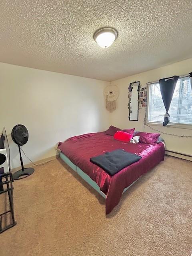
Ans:
POLYGON ((27 143, 29 134, 27 128, 22 124, 14 126, 11 132, 12 140, 19 146, 27 143))

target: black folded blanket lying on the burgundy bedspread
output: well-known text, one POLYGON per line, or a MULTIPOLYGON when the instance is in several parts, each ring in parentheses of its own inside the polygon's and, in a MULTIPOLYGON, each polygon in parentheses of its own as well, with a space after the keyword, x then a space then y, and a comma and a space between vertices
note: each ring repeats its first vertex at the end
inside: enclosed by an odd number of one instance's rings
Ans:
POLYGON ((105 170, 110 176, 113 176, 126 166, 133 164, 141 159, 141 156, 128 153, 122 149, 106 152, 100 156, 90 158, 93 164, 98 165, 105 170))

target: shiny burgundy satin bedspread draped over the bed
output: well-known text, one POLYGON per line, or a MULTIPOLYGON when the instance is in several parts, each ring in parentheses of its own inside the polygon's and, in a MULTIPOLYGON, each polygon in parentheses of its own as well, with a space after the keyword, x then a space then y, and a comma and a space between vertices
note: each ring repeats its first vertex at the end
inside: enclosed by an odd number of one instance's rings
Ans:
POLYGON ((106 214, 118 204, 124 188, 137 180, 164 159, 164 144, 132 144, 115 140, 104 132, 84 134, 60 142, 58 148, 71 162, 94 180, 106 196, 106 214), (110 176, 102 168, 90 162, 90 158, 112 151, 124 149, 142 156, 142 159, 110 176))

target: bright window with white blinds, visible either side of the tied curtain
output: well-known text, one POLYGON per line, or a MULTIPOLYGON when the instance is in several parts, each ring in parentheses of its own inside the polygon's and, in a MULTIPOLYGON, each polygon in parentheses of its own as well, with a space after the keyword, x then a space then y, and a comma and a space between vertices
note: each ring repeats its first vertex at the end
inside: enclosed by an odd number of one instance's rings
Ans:
MULTIPOLYGON (((149 85, 148 123, 162 123, 165 112, 159 83, 152 83, 149 85)), ((169 124, 192 125, 192 90, 188 76, 178 79, 169 114, 169 124)))

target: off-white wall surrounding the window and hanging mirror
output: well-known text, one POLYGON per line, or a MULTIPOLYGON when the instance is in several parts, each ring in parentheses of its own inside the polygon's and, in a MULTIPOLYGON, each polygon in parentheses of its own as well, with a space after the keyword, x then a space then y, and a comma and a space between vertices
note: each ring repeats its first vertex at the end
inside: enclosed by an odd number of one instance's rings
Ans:
MULTIPOLYGON (((128 76, 116 81, 113 81, 113 84, 116 84, 120 90, 120 95, 118 98, 118 108, 115 112, 110 114, 110 123, 119 128, 134 128, 139 131, 145 132, 155 132, 150 128, 145 126, 144 129, 144 116, 145 108, 143 107, 141 112, 139 112, 139 121, 129 121, 128 120, 128 86, 130 82, 140 81, 142 87, 146 87, 146 83, 150 81, 156 81, 160 78, 169 77, 173 75, 182 75, 192 72, 192 59, 184 60, 181 62, 176 62, 174 64, 164 66, 162 68, 157 68, 133 76, 128 76)), ((192 129, 180 129, 180 128, 171 128, 163 126, 152 126, 154 129, 161 130, 169 134, 177 135, 189 135, 192 136, 192 129)), ((184 154, 192 155, 192 138, 178 138, 175 136, 164 135, 162 134, 166 142, 166 148, 168 150, 182 152, 184 154)))

